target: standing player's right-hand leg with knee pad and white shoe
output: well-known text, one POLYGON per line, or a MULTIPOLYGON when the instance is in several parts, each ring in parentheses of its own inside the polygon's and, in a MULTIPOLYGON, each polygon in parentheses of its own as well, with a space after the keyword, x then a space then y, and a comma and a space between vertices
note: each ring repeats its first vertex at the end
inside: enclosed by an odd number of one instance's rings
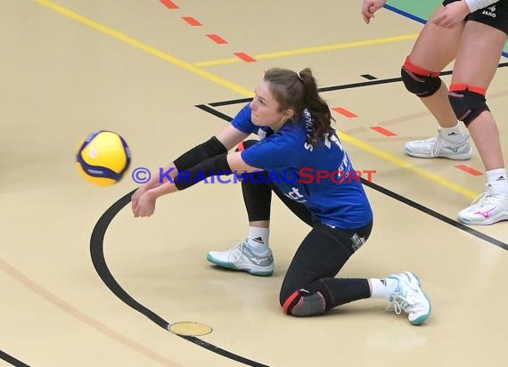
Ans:
POLYGON ((464 224, 494 224, 508 220, 508 179, 499 131, 485 100, 508 39, 508 29, 468 21, 463 30, 449 98, 456 115, 468 126, 486 170, 486 192, 458 214, 464 224), (488 40, 488 42, 479 42, 488 40))

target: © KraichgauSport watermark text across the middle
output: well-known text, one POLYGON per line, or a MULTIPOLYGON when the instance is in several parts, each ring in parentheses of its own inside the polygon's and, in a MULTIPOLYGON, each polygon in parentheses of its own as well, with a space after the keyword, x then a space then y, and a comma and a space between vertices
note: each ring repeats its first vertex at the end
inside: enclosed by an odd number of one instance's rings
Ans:
MULTIPOLYGON (((176 170, 175 167, 159 168, 158 183, 164 184, 169 182, 175 184, 175 178, 171 174, 176 170)), ((351 170, 342 171, 336 169, 317 170, 311 167, 299 168, 299 170, 282 170, 282 171, 255 171, 255 172, 238 172, 233 171, 217 171, 207 175, 204 172, 193 174, 190 171, 179 171, 176 179, 180 183, 197 184, 321 184, 324 181, 332 181, 333 184, 360 184, 363 178, 368 183, 372 183, 373 175, 376 170, 351 170)), ((132 172, 132 179, 136 184, 146 184, 152 179, 152 172, 146 167, 137 167, 132 172)))

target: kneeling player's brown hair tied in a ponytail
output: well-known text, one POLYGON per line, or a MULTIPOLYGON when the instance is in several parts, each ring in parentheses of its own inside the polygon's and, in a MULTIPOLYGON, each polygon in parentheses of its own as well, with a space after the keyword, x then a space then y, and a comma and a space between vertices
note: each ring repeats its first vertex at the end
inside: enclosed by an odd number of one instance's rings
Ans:
POLYGON ((308 68, 299 73, 288 69, 273 68, 265 73, 270 92, 281 105, 281 110, 291 109, 295 112, 294 119, 301 119, 307 109, 313 119, 310 132, 310 143, 332 132, 332 112, 328 104, 319 96, 317 84, 312 71, 308 68))

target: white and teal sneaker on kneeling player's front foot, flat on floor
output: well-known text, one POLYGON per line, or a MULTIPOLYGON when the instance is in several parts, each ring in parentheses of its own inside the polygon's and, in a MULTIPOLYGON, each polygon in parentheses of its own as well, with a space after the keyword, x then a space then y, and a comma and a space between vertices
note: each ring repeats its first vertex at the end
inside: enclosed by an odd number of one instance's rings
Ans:
POLYGON ((239 270, 253 275, 269 276, 274 273, 272 250, 266 247, 262 251, 254 251, 250 248, 247 240, 239 243, 233 249, 210 251, 207 260, 227 269, 239 270))

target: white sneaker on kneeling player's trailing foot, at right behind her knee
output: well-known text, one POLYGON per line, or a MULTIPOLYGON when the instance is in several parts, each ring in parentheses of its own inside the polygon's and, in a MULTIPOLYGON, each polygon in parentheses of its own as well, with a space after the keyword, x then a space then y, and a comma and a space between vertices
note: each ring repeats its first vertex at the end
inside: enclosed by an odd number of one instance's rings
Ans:
POLYGON ((409 322, 421 325, 430 316, 430 300, 422 290, 418 277, 411 272, 391 274, 398 281, 397 289, 390 295, 387 311, 396 314, 406 312, 409 322))

